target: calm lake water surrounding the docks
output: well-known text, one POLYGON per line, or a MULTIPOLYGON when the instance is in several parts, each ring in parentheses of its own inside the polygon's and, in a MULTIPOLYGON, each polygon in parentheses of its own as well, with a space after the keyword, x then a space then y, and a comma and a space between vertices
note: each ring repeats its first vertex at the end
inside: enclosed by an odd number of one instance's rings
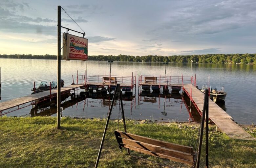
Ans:
MULTIPOLYGON (((2 102, 14 98, 31 94, 33 81, 36 86, 41 81, 56 81, 57 79, 57 60, 40 59, 0 59, 2 67, 2 102)), ((110 64, 107 61, 65 61, 61 62, 61 79, 65 85, 73 83, 72 75, 76 80, 76 70, 78 75, 82 75, 87 70, 87 74, 104 75, 109 74, 110 64)), ((207 83, 210 76, 210 85, 224 85, 227 97, 225 105, 226 112, 241 124, 256 124, 256 65, 233 65, 233 64, 187 64, 169 63, 167 64, 167 76, 191 76, 196 74, 197 85, 199 88, 207 83)), ((142 62, 114 62, 112 63, 111 74, 120 76, 131 76, 132 72, 142 75, 164 76, 165 65, 162 63, 143 63, 142 62)), ((137 77, 138 83, 138 77, 137 77)), ((79 93, 79 90, 78 90, 79 93)), ((124 100, 124 110, 126 118, 130 119, 150 119, 168 121, 188 121, 189 113, 181 95, 171 98, 139 96, 138 85, 133 91, 132 97, 124 100)), ((86 99, 71 101, 70 97, 62 101, 64 111, 63 116, 82 117, 82 118, 104 118, 107 116, 111 99, 108 97, 100 98, 90 95, 86 99), (90 98, 91 97, 91 98, 90 98)), ((0 104, 1 106, 1 104, 0 104)), ((112 119, 118 118, 118 101, 112 112, 112 119)), ((48 107, 35 110, 32 106, 26 107, 7 114, 8 116, 34 116, 52 115, 56 116, 55 109, 48 107), (36 112, 35 112, 36 111, 36 112), (35 114, 37 113, 37 114, 35 114)), ((199 118, 195 113, 196 120, 199 118)))

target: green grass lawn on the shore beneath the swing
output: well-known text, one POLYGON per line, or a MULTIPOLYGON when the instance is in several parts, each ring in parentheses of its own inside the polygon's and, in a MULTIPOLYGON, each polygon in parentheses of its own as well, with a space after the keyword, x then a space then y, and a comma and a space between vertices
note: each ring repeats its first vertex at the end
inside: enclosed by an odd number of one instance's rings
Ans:
MULTIPOLYGON (((62 118, 62 128, 56 130, 56 118, 0 118, 0 167, 94 167, 106 120, 62 118)), ((119 130, 123 125, 119 123, 119 130)), ((194 146, 199 125, 127 121, 127 132, 182 145, 194 146)), ((99 167, 189 167, 137 152, 136 159, 118 149, 114 136, 117 122, 109 123, 99 167)), ((255 130, 251 135, 256 137, 255 130)), ((204 164, 204 146, 201 165, 204 164)), ((209 132, 210 167, 256 167, 256 142, 231 140, 225 134, 209 132)))

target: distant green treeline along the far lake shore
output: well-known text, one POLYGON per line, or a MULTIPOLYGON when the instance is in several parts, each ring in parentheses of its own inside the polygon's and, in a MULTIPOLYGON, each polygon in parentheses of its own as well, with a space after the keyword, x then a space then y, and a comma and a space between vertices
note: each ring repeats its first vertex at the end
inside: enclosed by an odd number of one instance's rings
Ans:
MULTIPOLYGON (((15 59, 57 59, 56 55, 0 55, 0 58, 15 58, 15 59)), ((188 63, 193 61, 198 63, 242 63, 256 64, 256 54, 206 54, 206 55, 184 55, 184 56, 88 56, 88 60, 98 61, 136 61, 136 62, 180 62, 188 63)))

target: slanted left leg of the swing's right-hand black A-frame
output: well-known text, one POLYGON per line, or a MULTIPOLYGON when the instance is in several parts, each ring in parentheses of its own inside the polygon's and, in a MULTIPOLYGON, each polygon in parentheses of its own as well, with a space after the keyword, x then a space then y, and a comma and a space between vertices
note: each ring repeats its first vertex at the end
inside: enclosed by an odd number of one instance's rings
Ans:
POLYGON ((201 118, 200 139, 199 139, 199 145, 198 145, 196 168, 199 168, 199 164, 200 164, 200 155, 201 155, 202 142, 203 142, 203 126, 204 126, 205 111, 206 111, 205 109, 206 109, 206 104, 208 101, 208 92, 209 92, 209 90, 206 89, 205 94, 204 94, 203 114, 202 114, 202 118, 201 118))

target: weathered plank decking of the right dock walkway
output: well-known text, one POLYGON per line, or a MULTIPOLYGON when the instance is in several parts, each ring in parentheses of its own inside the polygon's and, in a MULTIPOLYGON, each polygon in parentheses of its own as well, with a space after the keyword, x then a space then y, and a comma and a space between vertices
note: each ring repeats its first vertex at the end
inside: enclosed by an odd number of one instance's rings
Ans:
MULTIPOLYGON (((203 99, 204 93, 198 90, 193 85, 184 85, 184 88, 189 96, 190 91, 192 91, 192 99, 195 106, 203 111, 203 99)), ((256 141, 256 138, 251 136, 243 128, 237 125, 233 118, 228 115, 223 109, 221 109, 217 104, 215 104, 211 99, 209 99, 209 118, 218 126, 218 128, 224 132, 231 139, 239 140, 253 140, 256 141)))

